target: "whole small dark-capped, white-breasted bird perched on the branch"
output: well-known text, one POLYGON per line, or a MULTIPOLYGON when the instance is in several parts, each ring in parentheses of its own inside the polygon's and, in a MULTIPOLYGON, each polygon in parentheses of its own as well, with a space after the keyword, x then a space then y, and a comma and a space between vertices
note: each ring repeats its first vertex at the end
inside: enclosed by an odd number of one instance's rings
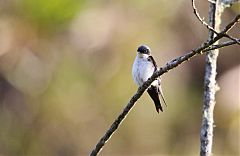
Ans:
MULTIPOLYGON (((138 86, 141 86, 145 81, 147 81, 157 70, 157 64, 150 53, 151 50, 146 45, 141 45, 137 49, 137 56, 132 67, 132 76, 134 82, 138 86)), ((147 92, 154 101, 157 112, 159 113, 159 110, 163 111, 159 99, 159 94, 165 105, 166 102, 164 100, 162 93, 160 77, 158 77, 156 80, 152 82, 152 84, 147 89, 147 92)))

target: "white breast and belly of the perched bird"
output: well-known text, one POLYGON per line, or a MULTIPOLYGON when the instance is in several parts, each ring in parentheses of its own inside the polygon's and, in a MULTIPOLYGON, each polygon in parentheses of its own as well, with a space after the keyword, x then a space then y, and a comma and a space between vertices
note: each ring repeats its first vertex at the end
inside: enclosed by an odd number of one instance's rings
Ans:
POLYGON ((132 68, 132 76, 134 82, 141 86, 145 81, 152 76, 154 65, 148 61, 148 55, 137 54, 132 68))

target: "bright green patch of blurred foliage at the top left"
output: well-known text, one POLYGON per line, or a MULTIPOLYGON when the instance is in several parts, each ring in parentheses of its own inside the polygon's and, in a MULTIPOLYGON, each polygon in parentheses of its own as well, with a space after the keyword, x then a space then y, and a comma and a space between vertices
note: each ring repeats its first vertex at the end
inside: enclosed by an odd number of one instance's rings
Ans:
POLYGON ((50 33, 69 24, 83 4, 84 0, 20 0, 15 7, 16 13, 50 33))

